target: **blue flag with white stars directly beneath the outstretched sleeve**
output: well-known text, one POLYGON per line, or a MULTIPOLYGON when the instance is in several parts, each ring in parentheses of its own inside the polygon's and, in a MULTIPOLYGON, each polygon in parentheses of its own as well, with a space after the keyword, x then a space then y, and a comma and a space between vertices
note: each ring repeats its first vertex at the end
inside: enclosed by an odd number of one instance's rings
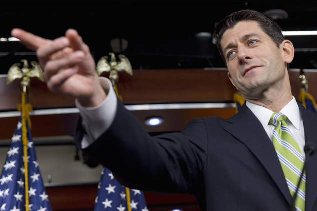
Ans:
MULTIPOLYGON (((103 168, 95 199, 95 211, 128 211, 126 189, 115 180, 111 171, 103 168)), ((148 211, 144 193, 140 190, 129 189, 131 211, 148 211)))

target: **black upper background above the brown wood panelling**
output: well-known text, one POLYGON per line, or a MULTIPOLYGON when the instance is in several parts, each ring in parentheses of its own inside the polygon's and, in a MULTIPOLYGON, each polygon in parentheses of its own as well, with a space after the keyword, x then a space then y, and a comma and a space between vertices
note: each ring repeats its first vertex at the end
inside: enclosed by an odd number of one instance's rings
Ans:
MULTIPOLYGON (((110 40, 124 38, 123 53, 137 69, 225 67, 210 32, 227 14, 241 9, 283 9, 282 30, 317 30, 317 1, 0 1, 0 38, 14 27, 54 39, 78 30, 96 62, 112 51, 110 40)), ((315 69, 317 36, 288 36, 295 46, 290 68, 315 69), (307 49, 308 48, 308 49, 307 49)), ((0 74, 13 63, 36 60, 17 42, 0 42, 0 74)))

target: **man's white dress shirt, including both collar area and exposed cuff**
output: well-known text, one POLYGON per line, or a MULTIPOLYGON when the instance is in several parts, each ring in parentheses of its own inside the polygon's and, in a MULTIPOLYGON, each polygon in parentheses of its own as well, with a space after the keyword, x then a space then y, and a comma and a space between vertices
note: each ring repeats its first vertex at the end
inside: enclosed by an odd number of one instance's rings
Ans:
MULTIPOLYGON (((86 108, 82 107, 76 100, 76 106, 79 109, 83 119, 82 125, 87 132, 87 135, 84 135, 81 142, 82 148, 87 148, 96 139, 98 139, 98 137, 100 137, 101 134, 103 134, 111 126, 115 118, 117 98, 112 87, 112 83, 108 78, 105 77, 100 77, 100 82, 103 89, 107 93, 107 97, 101 104, 93 108, 86 108)), ((268 137, 272 140, 275 126, 269 124, 269 119, 273 114, 273 111, 250 102, 246 102, 246 106, 259 119, 268 137)), ((288 125, 293 136, 298 141, 301 153, 305 157, 304 126, 295 98, 293 97, 292 100, 280 112, 287 116, 288 119, 286 124, 288 125)))

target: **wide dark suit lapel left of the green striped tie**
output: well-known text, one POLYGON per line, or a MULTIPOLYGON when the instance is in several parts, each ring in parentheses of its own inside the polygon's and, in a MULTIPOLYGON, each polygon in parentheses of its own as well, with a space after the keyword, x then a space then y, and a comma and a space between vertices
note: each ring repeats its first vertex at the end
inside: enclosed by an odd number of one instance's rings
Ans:
POLYGON ((244 104, 240 111, 227 121, 232 124, 224 129, 252 151, 271 175, 286 200, 291 203, 292 197, 275 148, 257 117, 244 104))

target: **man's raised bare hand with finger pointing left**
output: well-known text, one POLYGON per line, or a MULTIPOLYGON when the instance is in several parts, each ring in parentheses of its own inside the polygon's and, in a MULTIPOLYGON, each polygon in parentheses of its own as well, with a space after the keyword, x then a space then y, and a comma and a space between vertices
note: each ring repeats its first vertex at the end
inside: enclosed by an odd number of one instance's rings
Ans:
POLYGON ((36 51, 50 91, 77 98, 85 107, 95 107, 105 99, 89 47, 76 30, 68 29, 64 37, 54 40, 18 28, 11 34, 36 51))

